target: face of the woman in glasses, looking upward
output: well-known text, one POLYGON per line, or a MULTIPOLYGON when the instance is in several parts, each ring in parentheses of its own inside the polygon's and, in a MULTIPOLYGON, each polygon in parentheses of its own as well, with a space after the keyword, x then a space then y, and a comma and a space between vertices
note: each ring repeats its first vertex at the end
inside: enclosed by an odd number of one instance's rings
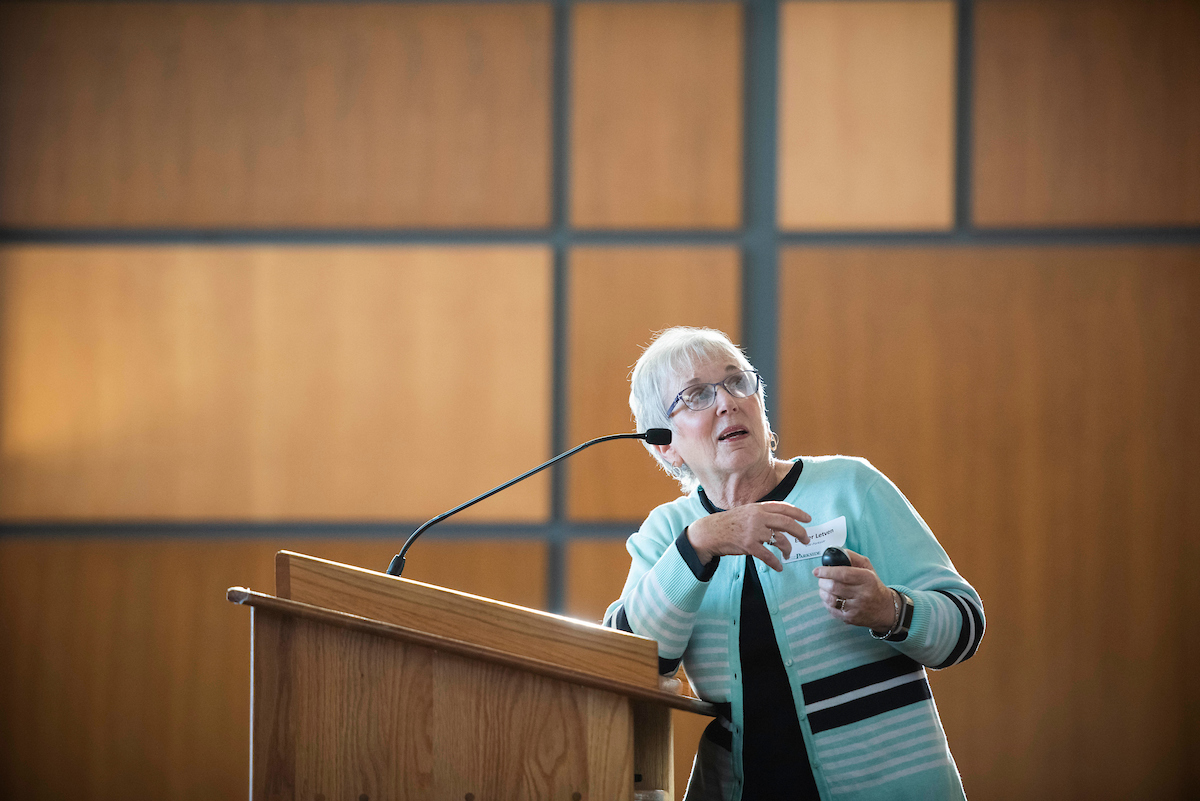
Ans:
MULTIPOLYGON (((714 384, 744 369, 737 362, 708 361, 697 366, 695 375, 683 377, 674 392, 694 384, 714 384)), ((724 386, 716 387, 716 401, 700 411, 679 403, 671 412, 674 434, 671 445, 660 451, 672 464, 686 464, 702 486, 715 487, 730 476, 770 464, 770 434, 758 395, 734 398, 724 386)))

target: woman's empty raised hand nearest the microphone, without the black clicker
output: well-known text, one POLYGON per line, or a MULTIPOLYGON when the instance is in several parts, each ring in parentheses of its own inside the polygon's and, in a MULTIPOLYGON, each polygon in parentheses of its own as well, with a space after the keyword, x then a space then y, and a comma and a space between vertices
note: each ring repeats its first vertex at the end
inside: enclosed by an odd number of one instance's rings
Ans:
MULTIPOLYGON (((784 564, 763 543, 782 531, 809 544, 809 534, 800 523, 811 522, 808 512, 784 501, 746 504, 700 518, 688 526, 688 541, 696 549, 701 565, 710 562, 713 556, 749 554, 781 572, 784 564)), ((792 553, 787 537, 775 537, 775 547, 784 559, 792 553)))

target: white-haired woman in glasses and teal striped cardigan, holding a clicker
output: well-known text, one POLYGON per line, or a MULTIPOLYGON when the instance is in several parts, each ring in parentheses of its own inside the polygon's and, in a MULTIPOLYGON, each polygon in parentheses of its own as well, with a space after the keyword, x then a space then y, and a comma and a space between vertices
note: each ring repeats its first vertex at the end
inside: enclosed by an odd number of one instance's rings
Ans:
POLYGON ((974 654, 983 604, 917 511, 863 459, 776 458, 762 380, 719 331, 661 332, 631 383, 688 494, 629 538, 605 622, 718 706, 685 797, 965 797, 925 668, 974 654), (850 566, 822 566, 830 546, 850 566))

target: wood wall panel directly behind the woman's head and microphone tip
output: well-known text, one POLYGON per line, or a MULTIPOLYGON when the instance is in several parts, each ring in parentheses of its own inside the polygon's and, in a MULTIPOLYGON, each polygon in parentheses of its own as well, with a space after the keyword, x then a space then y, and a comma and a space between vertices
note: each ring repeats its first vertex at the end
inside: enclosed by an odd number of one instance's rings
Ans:
MULTIPOLYGON (((742 272, 733 248, 590 247, 570 259, 571 441, 634 430, 629 374, 655 331, 696 325, 738 337, 742 272)), ((589 448, 566 470, 568 514, 577 520, 641 520, 679 495, 679 484, 631 442, 589 448)))

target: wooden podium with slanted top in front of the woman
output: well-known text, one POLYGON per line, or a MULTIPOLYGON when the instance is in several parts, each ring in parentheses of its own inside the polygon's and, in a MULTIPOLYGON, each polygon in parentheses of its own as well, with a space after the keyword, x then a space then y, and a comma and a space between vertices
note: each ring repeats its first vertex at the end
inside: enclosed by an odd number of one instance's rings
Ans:
POLYGON ((256 801, 674 799, 653 640, 302 554, 252 607, 256 801))

